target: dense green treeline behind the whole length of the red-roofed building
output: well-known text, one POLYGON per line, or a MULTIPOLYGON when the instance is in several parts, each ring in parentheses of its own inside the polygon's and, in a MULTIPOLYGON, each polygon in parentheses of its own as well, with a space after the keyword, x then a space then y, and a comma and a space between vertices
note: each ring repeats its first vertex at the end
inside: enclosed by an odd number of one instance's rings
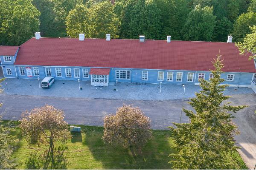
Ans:
POLYGON ((43 37, 242 41, 256 0, 0 0, 0 45, 43 37))

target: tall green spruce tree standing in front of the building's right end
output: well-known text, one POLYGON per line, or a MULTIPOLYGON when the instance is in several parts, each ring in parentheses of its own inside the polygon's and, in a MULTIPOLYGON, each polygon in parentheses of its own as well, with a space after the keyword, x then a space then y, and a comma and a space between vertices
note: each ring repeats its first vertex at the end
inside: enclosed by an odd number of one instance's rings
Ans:
POLYGON ((213 78, 200 79, 202 90, 196 93, 189 104, 195 112, 184 109, 189 123, 173 123, 170 127, 177 153, 171 154, 174 169, 236 169, 230 153, 236 151, 233 135, 238 133, 237 125, 232 122, 232 112, 245 108, 245 105, 232 106, 230 102, 221 104, 230 96, 224 96, 227 85, 221 85, 221 56, 213 62, 213 78))

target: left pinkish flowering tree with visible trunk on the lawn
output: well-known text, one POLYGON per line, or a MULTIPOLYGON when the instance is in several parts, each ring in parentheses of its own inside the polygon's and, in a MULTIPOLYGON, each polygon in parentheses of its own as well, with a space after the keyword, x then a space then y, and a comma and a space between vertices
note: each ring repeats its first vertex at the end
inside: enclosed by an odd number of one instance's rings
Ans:
POLYGON ((54 142, 71 139, 64 112, 51 105, 25 111, 20 120, 23 136, 30 142, 49 142, 49 153, 53 153, 54 142))

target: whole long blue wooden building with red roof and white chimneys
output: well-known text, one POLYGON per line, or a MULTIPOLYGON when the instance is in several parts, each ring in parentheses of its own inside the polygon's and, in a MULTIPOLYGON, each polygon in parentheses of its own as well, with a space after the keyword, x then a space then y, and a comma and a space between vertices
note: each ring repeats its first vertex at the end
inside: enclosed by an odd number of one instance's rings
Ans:
POLYGON ((143 82, 198 85, 210 79, 212 61, 222 55, 224 84, 250 87, 256 73, 253 60, 240 55, 227 42, 195 42, 79 38, 44 38, 40 33, 20 46, 0 46, 4 77, 17 79, 90 80, 91 85, 109 82, 143 82))

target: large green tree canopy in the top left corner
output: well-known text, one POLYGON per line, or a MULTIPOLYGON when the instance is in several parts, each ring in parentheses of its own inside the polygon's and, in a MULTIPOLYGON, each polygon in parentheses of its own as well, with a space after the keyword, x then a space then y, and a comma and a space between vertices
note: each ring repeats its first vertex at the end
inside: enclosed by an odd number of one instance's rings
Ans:
POLYGON ((31 0, 0 0, 0 44, 20 45, 39 31, 40 12, 31 0))

